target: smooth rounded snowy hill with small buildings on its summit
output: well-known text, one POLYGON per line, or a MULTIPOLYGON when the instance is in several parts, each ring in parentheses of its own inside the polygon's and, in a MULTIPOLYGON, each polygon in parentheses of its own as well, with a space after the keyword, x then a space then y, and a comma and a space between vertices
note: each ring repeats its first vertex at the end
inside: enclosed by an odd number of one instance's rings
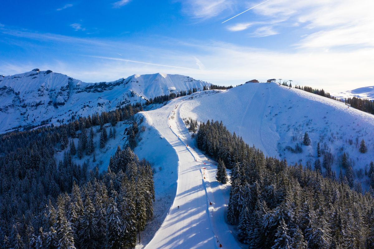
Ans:
MULTIPOLYGON (((276 83, 253 83, 213 95, 196 94, 183 101, 180 112, 182 118, 199 122, 222 120, 246 143, 268 156, 286 158, 289 164, 301 162, 305 166, 309 161, 313 165, 319 142, 322 153, 332 154, 332 170, 337 176, 346 152, 356 179, 368 187, 365 172, 374 158, 374 116, 344 103, 276 83), (301 145, 305 132, 312 141, 310 146, 301 145), (365 154, 359 152, 362 139, 368 147, 365 154), (291 152, 297 144, 302 153, 291 152)), ((323 156, 319 159, 322 162, 323 156)))

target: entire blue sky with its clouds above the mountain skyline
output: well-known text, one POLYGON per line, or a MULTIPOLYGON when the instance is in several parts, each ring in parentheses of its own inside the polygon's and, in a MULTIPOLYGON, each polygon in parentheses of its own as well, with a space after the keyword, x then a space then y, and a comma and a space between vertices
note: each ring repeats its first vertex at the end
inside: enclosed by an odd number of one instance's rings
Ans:
POLYGON ((183 74, 216 84, 282 78, 373 85, 373 1, 6 1, 0 74, 50 69, 86 81, 183 74), (52 3, 51 3, 52 2, 52 3))

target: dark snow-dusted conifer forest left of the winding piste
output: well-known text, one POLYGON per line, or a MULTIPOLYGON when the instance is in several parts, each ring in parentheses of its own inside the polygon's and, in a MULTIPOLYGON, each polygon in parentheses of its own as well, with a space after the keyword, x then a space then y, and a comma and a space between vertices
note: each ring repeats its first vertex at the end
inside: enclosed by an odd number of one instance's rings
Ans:
MULTIPOLYGON (((140 104, 126 105, 68 124, 2 134, 0 248, 134 248, 153 215, 150 164, 130 147, 119 147, 100 174, 98 168, 88 172, 90 160, 79 165, 73 155, 91 155, 94 162, 95 133, 100 132, 102 147, 116 136, 117 122, 139 111, 140 104), (79 138, 77 146, 73 138, 79 138), (59 162, 56 151, 64 153, 59 162)), ((133 122, 129 133, 137 130, 133 122)))

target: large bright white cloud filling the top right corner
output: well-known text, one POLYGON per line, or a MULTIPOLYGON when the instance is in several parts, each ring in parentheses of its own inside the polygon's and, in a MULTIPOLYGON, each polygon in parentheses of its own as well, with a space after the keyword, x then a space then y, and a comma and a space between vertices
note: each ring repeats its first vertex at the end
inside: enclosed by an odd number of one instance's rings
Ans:
POLYGON ((327 50, 374 47, 374 15, 368 11, 371 9, 372 0, 272 0, 253 11, 269 18, 286 17, 293 25, 303 24, 307 36, 297 45, 327 50))

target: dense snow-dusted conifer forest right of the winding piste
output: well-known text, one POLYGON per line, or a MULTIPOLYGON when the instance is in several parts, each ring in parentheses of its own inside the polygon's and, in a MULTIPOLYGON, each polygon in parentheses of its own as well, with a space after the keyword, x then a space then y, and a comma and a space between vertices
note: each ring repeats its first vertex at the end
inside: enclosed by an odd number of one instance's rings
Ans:
POLYGON ((196 139, 218 160, 217 178, 231 169, 227 220, 249 248, 374 248, 372 189, 363 195, 310 165, 265 157, 222 122, 200 124, 196 139))

